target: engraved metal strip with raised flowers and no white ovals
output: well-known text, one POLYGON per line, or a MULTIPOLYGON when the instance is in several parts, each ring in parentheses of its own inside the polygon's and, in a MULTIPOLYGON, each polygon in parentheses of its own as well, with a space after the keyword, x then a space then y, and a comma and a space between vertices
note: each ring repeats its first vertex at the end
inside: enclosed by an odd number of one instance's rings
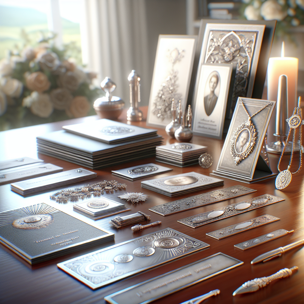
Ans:
POLYGON ((209 205, 215 202, 221 202, 226 199, 233 199, 235 197, 256 191, 257 190, 237 185, 225 189, 206 192, 204 194, 190 196, 185 199, 178 199, 173 202, 154 206, 149 208, 149 210, 163 216, 167 216, 181 211, 209 205))

